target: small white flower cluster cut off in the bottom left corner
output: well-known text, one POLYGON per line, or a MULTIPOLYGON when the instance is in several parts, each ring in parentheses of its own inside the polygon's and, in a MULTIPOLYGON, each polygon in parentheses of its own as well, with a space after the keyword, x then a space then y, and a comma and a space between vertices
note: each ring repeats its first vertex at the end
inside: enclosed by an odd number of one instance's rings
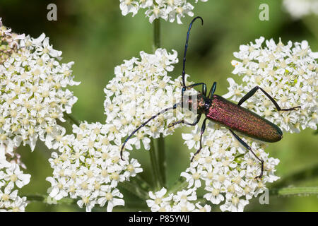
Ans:
POLYGON ((0 211, 24 211, 26 197, 18 196, 18 189, 30 182, 30 174, 23 174, 16 162, 6 161, 0 153, 0 211))

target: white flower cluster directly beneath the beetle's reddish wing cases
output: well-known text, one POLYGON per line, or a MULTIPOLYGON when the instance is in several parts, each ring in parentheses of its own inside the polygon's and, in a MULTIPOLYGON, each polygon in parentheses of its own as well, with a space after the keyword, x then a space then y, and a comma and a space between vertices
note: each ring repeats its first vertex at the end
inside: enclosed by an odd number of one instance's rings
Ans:
MULTIPOLYGON (((208 191, 204 198, 220 205, 222 211, 242 211, 249 199, 266 190, 267 182, 278 179, 274 172, 279 160, 264 152, 265 143, 243 138, 254 153, 264 160, 264 175, 261 180, 257 180, 255 177, 261 173, 261 163, 228 129, 209 122, 206 132, 202 138, 201 152, 195 155, 190 167, 181 176, 186 178, 188 189, 204 186, 208 191)), ((189 149, 199 149, 199 126, 192 133, 183 133, 182 138, 189 149)))

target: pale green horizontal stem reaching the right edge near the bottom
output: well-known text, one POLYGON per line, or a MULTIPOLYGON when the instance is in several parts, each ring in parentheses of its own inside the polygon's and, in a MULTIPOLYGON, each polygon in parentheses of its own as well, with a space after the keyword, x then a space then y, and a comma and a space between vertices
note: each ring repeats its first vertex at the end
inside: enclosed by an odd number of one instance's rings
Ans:
POLYGON ((270 189, 270 194, 278 196, 308 196, 318 195, 318 187, 287 187, 282 189, 270 189))

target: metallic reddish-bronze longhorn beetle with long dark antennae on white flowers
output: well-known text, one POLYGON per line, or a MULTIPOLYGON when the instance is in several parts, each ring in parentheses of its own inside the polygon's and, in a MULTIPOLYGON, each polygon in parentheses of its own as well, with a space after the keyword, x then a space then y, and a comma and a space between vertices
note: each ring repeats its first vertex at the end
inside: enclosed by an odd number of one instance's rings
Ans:
MULTIPOLYGON (((241 107, 243 102, 245 100, 249 99, 249 97, 252 97, 254 93, 257 92, 257 90, 261 90, 266 97, 269 97, 269 100, 273 102, 273 105, 275 105, 276 109, 278 111, 291 111, 300 108, 298 107, 291 107, 288 109, 281 109, 279 107, 278 103, 271 97, 268 93, 265 92, 262 88, 259 86, 255 86, 252 88, 252 90, 249 91, 242 99, 237 103, 237 105, 233 102, 230 102, 228 100, 225 100, 225 98, 214 94, 216 91, 216 82, 213 83, 211 90, 208 92, 208 95, 206 95, 206 84, 205 83, 195 83, 192 85, 186 85, 185 84, 185 62, 186 62, 186 54, 187 54, 187 48, 188 48, 188 42, 189 42, 189 34, 190 30, 192 28, 192 24, 196 19, 200 19, 201 23, 203 25, 204 20, 197 16, 192 20, 192 22, 189 25, 189 29, 187 32, 187 40, 184 47, 184 58, 183 58, 183 69, 182 69, 182 99, 180 103, 177 103, 173 105, 173 107, 167 107, 166 109, 163 109, 158 114, 155 114, 153 117, 148 119, 147 121, 143 122, 141 126, 139 126, 136 130, 134 130, 124 141, 122 145, 122 149, 120 152, 120 156, 122 157, 122 151, 124 150, 124 145, 126 142, 131 138, 131 136, 136 133, 136 131, 139 131, 143 126, 148 124, 149 121, 155 119, 155 117, 158 117, 158 115, 163 114, 167 112, 170 109, 176 109, 178 106, 181 105, 181 107, 184 107, 184 92, 187 89, 194 88, 194 86, 202 85, 202 92, 199 92, 196 95, 187 96, 185 100, 187 100, 187 104, 189 104, 188 108, 189 110, 196 110, 197 117, 193 123, 188 123, 184 120, 175 121, 172 124, 170 124, 168 127, 174 126, 176 124, 187 124, 191 126, 195 126, 198 124, 198 122, 201 119, 201 115, 205 114, 206 118, 203 121, 203 124, 201 126, 201 132, 200 132, 200 148, 199 150, 194 153, 194 156, 197 155, 201 148, 202 148, 202 135, 204 133, 204 130, 206 129, 206 120, 214 121, 216 124, 220 124, 221 126, 225 126, 230 130, 232 135, 239 141, 248 151, 250 151, 256 158, 261 162, 261 174, 259 176, 255 177, 255 179, 261 179, 264 172, 264 160, 261 160, 260 157, 257 157, 257 155, 254 153, 251 147, 245 143, 234 131, 237 131, 239 133, 242 133, 244 136, 249 136, 251 138, 255 138, 259 141, 265 141, 265 142, 277 142, 280 141, 283 137, 283 132, 281 129, 279 129, 278 126, 271 123, 271 121, 268 121, 264 119, 263 117, 260 117, 258 114, 255 114, 254 112, 249 111, 248 109, 245 109, 244 107, 241 107)), ((192 157, 192 160, 194 158, 192 157)), ((123 160, 123 158, 122 158, 123 160)), ((191 160, 191 161, 192 161, 191 160)))

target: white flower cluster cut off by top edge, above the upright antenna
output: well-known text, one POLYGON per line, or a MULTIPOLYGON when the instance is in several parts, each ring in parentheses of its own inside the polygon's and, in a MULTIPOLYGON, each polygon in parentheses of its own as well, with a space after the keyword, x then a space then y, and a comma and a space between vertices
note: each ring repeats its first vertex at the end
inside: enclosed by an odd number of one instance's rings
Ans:
MULTIPOLYGON (((133 16, 138 13, 140 8, 146 8, 146 17, 149 18, 149 22, 153 23, 153 20, 157 18, 163 18, 170 23, 175 21, 181 24, 181 18, 184 16, 194 16, 192 10, 194 6, 187 0, 119 0, 119 7, 122 10, 122 15, 126 16, 128 13, 132 13, 133 16)), ((194 0, 197 3, 199 0, 194 0)), ((201 0, 208 1, 208 0, 201 0)))

